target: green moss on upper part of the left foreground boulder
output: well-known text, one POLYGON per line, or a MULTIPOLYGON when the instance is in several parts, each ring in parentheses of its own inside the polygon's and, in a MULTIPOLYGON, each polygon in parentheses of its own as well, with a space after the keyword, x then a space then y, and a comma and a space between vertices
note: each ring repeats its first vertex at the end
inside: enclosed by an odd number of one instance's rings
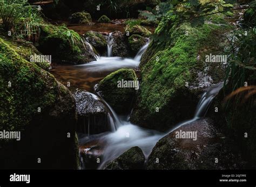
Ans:
POLYGON ((34 63, 24 60, 8 42, 0 39, 1 129, 24 130, 38 107, 46 110, 56 102, 55 78, 34 63), (48 82, 45 81, 47 78, 48 82), (11 87, 8 87, 11 83, 11 87), (10 110, 10 111, 9 111, 10 110))

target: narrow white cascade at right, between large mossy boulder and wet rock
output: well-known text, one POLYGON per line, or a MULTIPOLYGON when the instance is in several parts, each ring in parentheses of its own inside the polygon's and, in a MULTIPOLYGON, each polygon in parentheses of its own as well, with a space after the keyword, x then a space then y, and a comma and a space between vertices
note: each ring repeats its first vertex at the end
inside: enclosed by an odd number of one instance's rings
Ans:
POLYGON ((184 121, 183 123, 179 123, 176 127, 172 128, 171 132, 183 125, 190 124, 198 119, 204 118, 211 103, 212 103, 212 100, 214 99, 215 96, 218 95, 219 91, 223 88, 223 85, 224 85, 223 82, 221 82, 219 84, 215 84, 211 88, 209 88, 206 92, 204 92, 204 94, 202 95, 202 97, 199 100, 199 103, 197 105, 197 109, 194 114, 194 118, 184 121))

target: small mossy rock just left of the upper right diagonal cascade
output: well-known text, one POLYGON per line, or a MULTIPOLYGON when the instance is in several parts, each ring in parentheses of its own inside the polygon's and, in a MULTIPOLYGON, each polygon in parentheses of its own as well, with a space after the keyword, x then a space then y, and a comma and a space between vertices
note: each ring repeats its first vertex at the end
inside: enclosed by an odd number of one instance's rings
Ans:
POLYGON ((133 34, 131 35, 131 37, 128 38, 128 41, 132 53, 137 54, 139 52, 139 49, 146 44, 147 39, 142 37, 141 35, 133 34))

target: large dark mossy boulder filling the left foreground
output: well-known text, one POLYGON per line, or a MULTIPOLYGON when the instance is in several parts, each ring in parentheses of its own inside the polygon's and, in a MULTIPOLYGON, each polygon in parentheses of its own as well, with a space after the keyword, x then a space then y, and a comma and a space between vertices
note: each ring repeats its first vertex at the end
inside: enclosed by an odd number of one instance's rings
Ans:
POLYGON ((0 38, 0 131, 20 131, 21 141, 0 142, 2 168, 76 169, 75 100, 55 77, 23 59, 9 42, 0 38))

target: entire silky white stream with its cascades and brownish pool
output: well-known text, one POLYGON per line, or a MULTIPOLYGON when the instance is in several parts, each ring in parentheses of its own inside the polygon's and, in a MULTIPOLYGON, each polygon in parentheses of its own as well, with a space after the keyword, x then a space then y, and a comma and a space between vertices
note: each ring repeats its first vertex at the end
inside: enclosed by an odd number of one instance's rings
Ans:
MULTIPOLYGON (((113 41, 111 34, 109 34, 107 47, 109 56, 111 56, 112 42, 113 41)), ((102 80, 102 78, 115 70, 118 70, 120 68, 138 68, 140 59, 148 45, 149 44, 143 46, 136 55, 136 57, 134 57, 134 59, 121 57, 99 57, 97 61, 93 61, 79 66, 69 67, 68 71, 66 72, 67 75, 64 76, 68 77, 67 80, 69 81, 72 79, 76 81, 80 80, 78 82, 81 82, 81 84, 83 85, 87 85, 86 90, 92 92, 91 94, 93 98, 100 100, 100 102, 102 102, 107 107, 107 109, 109 109, 108 118, 112 132, 92 135, 90 137, 86 136, 86 138, 79 140, 80 145, 92 141, 104 142, 104 148, 102 150, 103 158, 98 169, 103 169, 107 163, 109 163, 119 155, 123 154, 126 150, 134 146, 140 147, 143 150, 143 153, 145 154, 145 157, 147 159, 152 151, 152 148, 156 145, 156 142, 166 135, 166 133, 160 133, 154 130, 147 130, 145 128, 138 127, 130 123, 130 117, 122 119, 113 111, 111 106, 107 104, 103 98, 97 95, 97 92, 94 89, 95 85, 100 80, 102 80)), ((63 72, 61 73, 60 68, 57 68, 57 70, 55 71, 55 75, 58 76, 58 73, 63 76, 63 72)), ((60 78, 60 80, 63 80, 63 77, 60 78)), ((79 85, 77 84, 73 86, 79 88, 79 85)), ((214 85, 212 88, 207 90, 199 101, 194 118, 191 120, 187 120, 184 123, 178 124, 172 129, 172 131, 182 125, 186 125, 200 118, 203 118, 212 102, 212 99, 218 94, 219 90, 222 87, 223 83, 220 83, 218 85, 214 85)))

